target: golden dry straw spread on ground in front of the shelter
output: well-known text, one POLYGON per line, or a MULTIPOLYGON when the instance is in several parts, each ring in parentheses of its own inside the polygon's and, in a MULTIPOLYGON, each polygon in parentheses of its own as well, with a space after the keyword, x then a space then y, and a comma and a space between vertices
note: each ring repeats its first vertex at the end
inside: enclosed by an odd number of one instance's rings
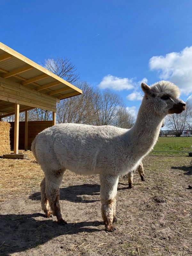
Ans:
MULTIPOLYGON (((0 203, 18 196, 30 195, 32 190, 40 189, 44 177, 40 165, 37 164, 31 151, 27 159, 0 158, 0 203)), ((68 175, 70 171, 66 171, 68 175)), ((70 172, 68 180, 84 179, 84 176, 70 172)), ((83 183, 83 182, 82 182, 83 183)))

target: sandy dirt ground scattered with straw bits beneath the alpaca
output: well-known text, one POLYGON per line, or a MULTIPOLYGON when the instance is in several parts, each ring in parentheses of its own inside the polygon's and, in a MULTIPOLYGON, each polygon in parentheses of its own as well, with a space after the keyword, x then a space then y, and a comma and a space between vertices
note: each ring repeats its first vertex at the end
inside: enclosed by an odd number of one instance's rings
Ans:
MULTIPOLYGON (((31 176, 37 169, 42 176, 31 154, 26 160, 0 160, 2 177, 7 168, 14 170, 16 163, 25 165, 26 173, 31 176), (5 168, 5 163, 9 167, 5 168)), ((55 217, 44 218, 39 180, 32 190, 30 185, 25 188, 26 193, 22 182, 16 195, 11 188, 12 192, 2 190, 0 255, 192 255, 190 158, 185 154, 150 155, 143 163, 145 182, 135 173, 134 188, 128 189, 127 178, 119 179, 118 223, 113 233, 104 231, 96 175, 79 176, 69 171, 64 174, 60 204, 63 218, 68 222, 65 226, 58 225, 55 217)), ((8 179, 6 182, 11 187, 8 179)))

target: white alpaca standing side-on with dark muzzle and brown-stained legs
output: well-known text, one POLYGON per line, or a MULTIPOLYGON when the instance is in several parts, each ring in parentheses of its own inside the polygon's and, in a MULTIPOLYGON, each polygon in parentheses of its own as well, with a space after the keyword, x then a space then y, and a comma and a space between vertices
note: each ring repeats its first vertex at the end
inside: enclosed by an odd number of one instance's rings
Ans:
POLYGON ((167 81, 151 87, 141 84, 145 93, 134 126, 57 124, 40 132, 32 151, 44 171, 41 182, 41 204, 46 217, 50 207, 59 223, 62 219, 59 186, 66 169, 77 174, 100 175, 101 212, 105 229, 114 231, 118 178, 134 170, 154 147, 162 120, 167 114, 181 113, 185 103, 178 97, 179 88, 167 81))

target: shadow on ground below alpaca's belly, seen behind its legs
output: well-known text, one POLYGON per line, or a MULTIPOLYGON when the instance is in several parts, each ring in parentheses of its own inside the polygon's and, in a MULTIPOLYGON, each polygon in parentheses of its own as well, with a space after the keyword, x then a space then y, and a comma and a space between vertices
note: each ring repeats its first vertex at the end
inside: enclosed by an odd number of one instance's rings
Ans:
MULTIPOLYGON (((121 184, 121 183, 119 183, 121 184)), ((127 185, 127 184, 122 184, 127 185)), ((128 189, 125 188, 118 188, 118 190, 128 189)), ((69 186, 67 188, 60 188, 60 200, 66 200, 73 203, 94 203, 99 201, 93 200, 94 196, 100 195, 100 185, 98 184, 83 184, 83 185, 75 185, 69 186), (88 196, 91 198, 88 199, 88 196)), ((41 200, 41 193, 36 192, 29 196, 32 200, 41 200)), ((98 197, 97 197, 98 198, 98 197)))

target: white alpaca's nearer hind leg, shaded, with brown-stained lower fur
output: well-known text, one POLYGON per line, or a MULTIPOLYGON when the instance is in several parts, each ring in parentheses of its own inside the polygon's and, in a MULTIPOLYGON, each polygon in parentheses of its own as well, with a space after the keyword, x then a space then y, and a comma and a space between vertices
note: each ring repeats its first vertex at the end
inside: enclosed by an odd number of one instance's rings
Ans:
POLYGON ((64 170, 57 170, 49 172, 45 178, 45 193, 49 200, 52 214, 57 217, 59 224, 67 224, 62 219, 61 208, 59 203, 59 186, 62 182, 64 170))

